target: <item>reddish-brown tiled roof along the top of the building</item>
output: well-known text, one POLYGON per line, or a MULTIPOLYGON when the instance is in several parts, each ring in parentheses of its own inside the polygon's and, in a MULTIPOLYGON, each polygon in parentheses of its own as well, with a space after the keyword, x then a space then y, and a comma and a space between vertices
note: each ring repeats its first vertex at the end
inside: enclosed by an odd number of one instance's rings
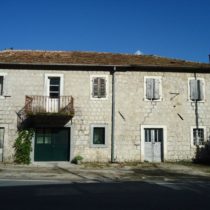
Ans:
POLYGON ((67 64, 67 65, 122 65, 210 68, 210 64, 189 62, 152 55, 114 54, 80 51, 0 51, 0 63, 6 64, 67 64))

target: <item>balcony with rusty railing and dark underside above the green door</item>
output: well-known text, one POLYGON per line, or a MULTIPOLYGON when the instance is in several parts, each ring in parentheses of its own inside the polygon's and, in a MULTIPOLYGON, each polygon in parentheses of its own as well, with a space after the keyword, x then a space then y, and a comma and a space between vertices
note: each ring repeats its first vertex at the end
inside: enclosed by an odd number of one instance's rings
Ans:
POLYGON ((26 96, 25 106, 17 113, 18 127, 23 124, 65 124, 74 116, 72 96, 26 96))

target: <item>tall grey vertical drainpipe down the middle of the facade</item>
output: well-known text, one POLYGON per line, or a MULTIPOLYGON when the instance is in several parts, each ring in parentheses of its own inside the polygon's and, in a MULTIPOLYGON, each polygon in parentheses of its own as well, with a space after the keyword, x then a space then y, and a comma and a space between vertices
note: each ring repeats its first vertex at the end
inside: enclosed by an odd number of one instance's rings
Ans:
POLYGON ((115 72, 116 66, 113 67, 112 71, 112 129, 111 129, 111 163, 115 162, 115 72))

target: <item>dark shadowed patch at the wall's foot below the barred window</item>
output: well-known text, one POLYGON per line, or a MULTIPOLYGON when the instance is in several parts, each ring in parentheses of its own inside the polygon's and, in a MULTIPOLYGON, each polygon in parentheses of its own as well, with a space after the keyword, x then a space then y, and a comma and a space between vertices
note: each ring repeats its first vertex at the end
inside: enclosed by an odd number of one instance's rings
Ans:
POLYGON ((207 141, 202 147, 197 146, 193 162, 210 165, 210 141, 207 141))

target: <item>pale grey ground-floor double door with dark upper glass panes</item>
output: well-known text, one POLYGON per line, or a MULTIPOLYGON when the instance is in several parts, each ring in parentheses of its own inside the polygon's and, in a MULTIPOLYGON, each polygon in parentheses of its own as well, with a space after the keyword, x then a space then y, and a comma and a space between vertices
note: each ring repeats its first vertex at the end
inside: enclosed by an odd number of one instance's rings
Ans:
POLYGON ((144 129, 144 160, 161 162, 163 159, 163 129, 144 129))

